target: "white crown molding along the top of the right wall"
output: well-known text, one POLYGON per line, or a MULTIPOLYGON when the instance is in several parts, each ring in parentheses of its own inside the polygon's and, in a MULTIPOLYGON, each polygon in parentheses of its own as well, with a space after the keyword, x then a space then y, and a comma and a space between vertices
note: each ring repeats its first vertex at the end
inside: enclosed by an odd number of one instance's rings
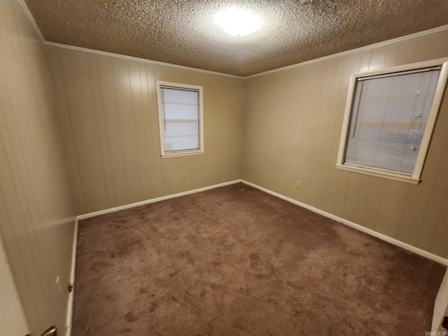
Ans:
POLYGON ((411 38, 425 36, 425 35, 428 35, 428 34, 433 34, 433 33, 437 33, 438 31, 444 31, 444 30, 448 30, 448 25, 444 25, 444 26, 440 26, 440 27, 436 27, 436 28, 432 28, 432 29, 428 29, 428 30, 419 31, 418 33, 414 33, 414 34, 410 34, 410 35, 406 35, 406 36, 400 36, 400 37, 397 37, 397 38, 392 38, 391 40, 387 40, 387 41, 382 41, 382 42, 378 42, 378 43, 374 43, 374 44, 370 44, 370 45, 365 45, 363 47, 356 48, 356 49, 351 49, 351 50, 338 52, 337 54, 332 54, 332 55, 328 55, 328 56, 324 56, 324 57, 320 57, 320 58, 316 58, 316 59, 310 59, 309 61, 305 61, 305 62, 301 62, 301 63, 297 63, 297 64, 283 66, 282 68, 279 68, 279 69, 273 69, 273 70, 269 70, 269 71, 265 71, 265 72, 255 73, 254 75, 244 77, 244 79, 249 79, 249 78, 254 78, 254 77, 259 77, 259 76, 265 76, 265 75, 268 75, 269 73, 274 73, 274 72, 278 72, 278 71, 285 71, 285 70, 288 70, 288 69, 297 68, 297 66, 303 66, 303 65, 307 65, 307 64, 312 64, 312 63, 316 63, 316 62, 325 61, 326 59, 332 59, 332 58, 335 58, 335 57, 340 57, 340 56, 344 56, 344 55, 350 55, 353 52, 359 52, 359 51, 370 50, 370 49, 373 49, 373 48, 379 48, 379 47, 382 47, 384 45, 389 45, 389 44, 400 42, 400 41, 406 41, 406 40, 409 40, 411 38))

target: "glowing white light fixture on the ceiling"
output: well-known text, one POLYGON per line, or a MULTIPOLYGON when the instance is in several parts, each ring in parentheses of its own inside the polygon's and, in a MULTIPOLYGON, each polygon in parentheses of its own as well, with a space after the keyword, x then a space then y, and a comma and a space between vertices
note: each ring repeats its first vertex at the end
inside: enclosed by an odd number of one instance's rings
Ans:
POLYGON ((227 34, 246 36, 258 30, 263 20, 249 10, 230 8, 215 15, 215 21, 227 34))

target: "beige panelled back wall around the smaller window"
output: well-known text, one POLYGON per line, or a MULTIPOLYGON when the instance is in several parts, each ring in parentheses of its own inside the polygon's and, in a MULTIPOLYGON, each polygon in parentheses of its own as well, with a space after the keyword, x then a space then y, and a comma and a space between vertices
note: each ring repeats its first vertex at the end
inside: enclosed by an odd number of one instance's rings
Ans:
POLYGON ((77 214, 241 177, 243 80, 52 46, 47 55, 77 214), (160 158, 155 80, 204 87, 204 155, 160 158))

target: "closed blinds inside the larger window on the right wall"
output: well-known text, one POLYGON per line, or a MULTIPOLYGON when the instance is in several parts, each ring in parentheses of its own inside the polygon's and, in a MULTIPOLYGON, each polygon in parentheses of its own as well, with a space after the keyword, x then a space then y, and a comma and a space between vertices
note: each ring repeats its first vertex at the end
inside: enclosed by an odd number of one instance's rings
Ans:
POLYGON ((440 66, 358 78, 344 165, 412 176, 440 66))

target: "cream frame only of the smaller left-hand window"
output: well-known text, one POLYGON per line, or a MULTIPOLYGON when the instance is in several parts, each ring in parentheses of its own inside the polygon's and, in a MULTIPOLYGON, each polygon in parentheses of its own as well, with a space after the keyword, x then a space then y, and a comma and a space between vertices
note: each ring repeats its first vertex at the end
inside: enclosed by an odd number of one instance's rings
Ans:
POLYGON ((172 83, 165 82, 162 80, 155 81, 157 86, 157 100, 158 100, 158 116, 159 116, 159 134, 160 134, 160 156, 162 158, 175 158, 178 156, 187 156, 187 155, 199 155, 204 154, 204 109, 203 109, 203 94, 202 94, 202 86, 198 85, 190 85, 190 84, 181 84, 181 83, 172 83), (179 89, 190 89, 197 90, 199 92, 199 149, 191 149, 186 151, 172 151, 165 152, 165 127, 163 125, 163 102, 162 102, 162 92, 160 87, 176 87, 179 89))

